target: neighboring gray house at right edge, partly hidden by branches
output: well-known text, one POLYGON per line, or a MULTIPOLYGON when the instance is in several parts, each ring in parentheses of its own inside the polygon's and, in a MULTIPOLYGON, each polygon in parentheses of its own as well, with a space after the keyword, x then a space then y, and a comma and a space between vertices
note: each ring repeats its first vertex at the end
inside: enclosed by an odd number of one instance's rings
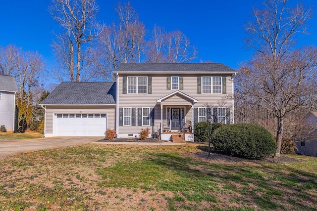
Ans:
MULTIPOLYGON (((317 125, 317 112, 308 112, 304 119, 307 121, 307 123, 317 125)), ((296 153, 314 157, 317 156, 317 140, 297 142, 296 146, 298 148, 296 153)))

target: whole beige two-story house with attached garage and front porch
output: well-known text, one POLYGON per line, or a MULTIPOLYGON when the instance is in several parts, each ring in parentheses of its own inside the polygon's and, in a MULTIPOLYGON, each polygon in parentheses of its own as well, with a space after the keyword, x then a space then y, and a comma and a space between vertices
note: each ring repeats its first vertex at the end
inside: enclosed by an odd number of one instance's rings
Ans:
POLYGON ((233 77, 220 63, 124 63, 116 82, 61 83, 42 102, 45 135, 136 137, 142 128, 161 138, 186 129, 194 140, 197 122, 234 123, 233 77), (185 126, 185 129, 184 129, 185 126))

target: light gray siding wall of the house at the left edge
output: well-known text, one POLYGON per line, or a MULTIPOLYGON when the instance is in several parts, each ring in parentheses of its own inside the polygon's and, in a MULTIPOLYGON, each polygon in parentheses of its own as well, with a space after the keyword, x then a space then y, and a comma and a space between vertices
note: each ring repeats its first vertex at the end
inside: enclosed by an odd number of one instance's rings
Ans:
POLYGON ((7 131, 13 131, 14 122, 14 93, 1 91, 0 99, 0 126, 4 125, 7 131))

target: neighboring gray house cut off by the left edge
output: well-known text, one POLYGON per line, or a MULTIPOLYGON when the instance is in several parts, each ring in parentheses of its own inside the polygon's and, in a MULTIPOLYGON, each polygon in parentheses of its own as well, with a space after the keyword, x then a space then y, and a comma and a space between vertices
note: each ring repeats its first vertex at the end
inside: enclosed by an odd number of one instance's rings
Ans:
POLYGON ((12 76, 0 75, 0 126, 7 132, 14 131, 15 93, 18 87, 12 76))

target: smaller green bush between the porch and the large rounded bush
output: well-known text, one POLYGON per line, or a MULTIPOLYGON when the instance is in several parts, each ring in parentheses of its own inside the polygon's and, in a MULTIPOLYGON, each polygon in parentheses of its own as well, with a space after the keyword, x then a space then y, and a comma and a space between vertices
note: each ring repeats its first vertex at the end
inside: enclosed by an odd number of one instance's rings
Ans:
MULTIPOLYGON (((218 127, 224 126, 221 123, 212 123, 211 124, 211 133, 218 127)), ((208 129, 209 123, 208 122, 200 122, 194 125, 194 133, 195 137, 198 138, 200 142, 208 142, 208 129)))

